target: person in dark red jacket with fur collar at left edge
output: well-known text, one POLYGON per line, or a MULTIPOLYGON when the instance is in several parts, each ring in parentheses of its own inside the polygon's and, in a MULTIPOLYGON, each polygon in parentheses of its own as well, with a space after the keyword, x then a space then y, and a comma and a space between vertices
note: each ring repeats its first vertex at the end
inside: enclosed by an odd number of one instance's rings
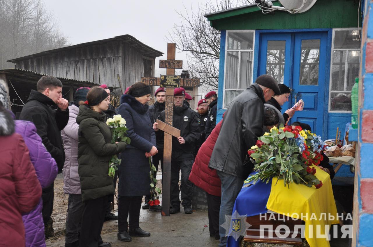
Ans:
POLYGON ((25 246, 21 214, 38 204, 41 186, 25 141, 14 132, 13 117, 1 99, 4 98, 0 97, 0 245, 25 246))

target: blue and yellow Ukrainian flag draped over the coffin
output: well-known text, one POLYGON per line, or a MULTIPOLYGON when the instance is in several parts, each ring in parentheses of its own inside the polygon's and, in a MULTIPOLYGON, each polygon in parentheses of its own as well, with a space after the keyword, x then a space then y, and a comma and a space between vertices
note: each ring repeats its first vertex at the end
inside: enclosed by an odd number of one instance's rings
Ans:
MULTIPOLYGON (((327 225, 339 223, 338 213, 329 174, 318 167, 316 167, 316 170, 317 178, 323 183, 320 189, 295 183, 292 183, 288 188, 283 185, 281 180, 276 183, 276 178, 269 180, 268 183, 263 183, 260 180, 255 184, 252 182, 245 183, 235 201, 232 220, 239 218, 237 215, 253 216, 266 213, 267 210, 293 217, 294 215, 303 215, 306 217, 299 219, 305 221, 304 235, 310 247, 329 247, 329 241, 326 238, 317 237, 316 229, 320 229, 321 235, 327 233, 325 232, 327 225), (236 215, 234 215, 234 212, 236 212, 236 215), (313 218, 313 214, 317 219, 313 218), (326 217, 323 217, 323 215, 326 217), (333 220, 329 220, 329 217, 333 220), (311 229, 313 229, 312 234, 310 233, 311 229)), ((242 222, 240 223, 242 226, 242 222)), ((227 246, 238 247, 238 241, 233 238, 235 229, 238 228, 232 226, 233 224, 231 224, 229 230, 227 246)), ((241 235, 244 234, 245 231, 241 235)))

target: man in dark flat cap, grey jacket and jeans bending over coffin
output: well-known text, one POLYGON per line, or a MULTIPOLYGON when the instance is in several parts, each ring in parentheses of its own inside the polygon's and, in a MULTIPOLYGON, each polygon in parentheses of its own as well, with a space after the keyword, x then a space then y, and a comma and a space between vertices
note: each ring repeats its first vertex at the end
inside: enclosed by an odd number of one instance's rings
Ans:
POLYGON ((209 163, 210 168, 217 170, 222 181, 220 247, 226 246, 228 239, 225 229, 221 227, 225 222, 225 215, 232 215, 238 192, 254 167, 246 159, 247 150, 263 134, 264 103, 275 93, 280 93, 277 81, 271 76, 261 75, 254 84, 232 100, 225 112, 209 163))

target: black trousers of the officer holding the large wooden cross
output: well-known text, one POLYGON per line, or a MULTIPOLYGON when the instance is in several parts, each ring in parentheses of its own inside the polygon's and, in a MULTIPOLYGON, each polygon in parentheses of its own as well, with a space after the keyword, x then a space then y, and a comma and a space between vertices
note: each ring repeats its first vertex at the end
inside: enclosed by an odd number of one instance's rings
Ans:
POLYGON ((179 194, 181 190, 182 205, 192 206, 193 184, 189 181, 194 160, 171 161, 170 205, 180 207, 179 194), (181 184, 179 190, 179 174, 181 184))

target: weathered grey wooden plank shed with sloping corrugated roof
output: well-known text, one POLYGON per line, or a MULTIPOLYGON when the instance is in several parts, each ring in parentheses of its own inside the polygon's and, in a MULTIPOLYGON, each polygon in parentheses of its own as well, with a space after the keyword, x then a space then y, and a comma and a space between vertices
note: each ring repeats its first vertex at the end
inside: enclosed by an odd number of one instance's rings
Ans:
POLYGON ((13 58, 8 62, 15 63, 19 69, 107 84, 123 92, 141 77, 153 77, 155 58, 162 55, 126 34, 13 58))

